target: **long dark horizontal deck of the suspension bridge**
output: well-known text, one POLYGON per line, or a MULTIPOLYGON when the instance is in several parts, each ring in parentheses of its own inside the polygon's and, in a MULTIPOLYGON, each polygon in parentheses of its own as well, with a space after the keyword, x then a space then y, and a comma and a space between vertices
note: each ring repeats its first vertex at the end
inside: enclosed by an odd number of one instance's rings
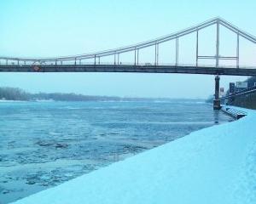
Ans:
POLYGON ((2 72, 136 72, 256 76, 255 68, 175 65, 0 65, 2 72))

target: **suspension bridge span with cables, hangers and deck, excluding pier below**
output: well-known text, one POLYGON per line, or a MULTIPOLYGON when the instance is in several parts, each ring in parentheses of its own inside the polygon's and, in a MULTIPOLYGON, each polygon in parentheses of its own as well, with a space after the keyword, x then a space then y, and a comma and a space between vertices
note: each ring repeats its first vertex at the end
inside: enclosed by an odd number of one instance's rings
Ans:
MULTIPOLYGON (((193 38, 193 39, 194 39, 193 38)), ((151 41, 137 43, 123 48, 105 50, 90 54, 64 56, 55 58, 17 58, 0 56, 0 71, 23 71, 23 72, 145 72, 145 73, 180 73, 180 74, 207 74, 207 75, 230 75, 230 76, 256 76, 256 66, 243 66, 240 63, 240 39, 244 38, 255 46, 256 37, 246 31, 233 26, 228 21, 214 18, 199 25, 189 27, 183 31, 155 38, 151 41), (199 54, 200 32, 207 27, 214 26, 216 48, 214 55, 199 54), (236 54, 223 56, 220 54, 220 27, 236 34, 236 54), (194 35, 191 35, 194 33, 194 35), (191 65, 179 61, 181 37, 190 36, 195 38, 195 62, 191 65), (160 46, 166 42, 174 41, 175 62, 160 62, 160 46), (154 62, 148 63, 140 58, 145 48, 150 48, 154 53, 154 62), (130 62, 124 63, 121 58, 123 54, 131 54, 130 62), (108 57, 111 62, 104 62, 108 57), (201 65, 201 59, 214 60, 214 65, 201 65), (220 65, 220 60, 233 60, 236 65, 220 65)))

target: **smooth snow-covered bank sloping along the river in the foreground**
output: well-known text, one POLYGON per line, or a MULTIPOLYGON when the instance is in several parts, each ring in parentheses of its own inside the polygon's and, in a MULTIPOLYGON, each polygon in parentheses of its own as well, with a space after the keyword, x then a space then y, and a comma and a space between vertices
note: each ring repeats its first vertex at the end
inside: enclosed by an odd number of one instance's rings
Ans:
POLYGON ((16 204, 256 203, 256 111, 16 204))

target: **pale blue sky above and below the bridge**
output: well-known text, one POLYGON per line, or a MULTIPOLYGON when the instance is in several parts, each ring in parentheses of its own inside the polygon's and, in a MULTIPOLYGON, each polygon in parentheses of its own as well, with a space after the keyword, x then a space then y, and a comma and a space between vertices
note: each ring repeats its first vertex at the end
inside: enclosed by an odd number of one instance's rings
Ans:
MULTIPOLYGON (((216 16, 256 35, 255 9, 255 1, 231 0, 3 0, 0 2, 0 55, 84 54, 160 37, 216 16)), ((201 54, 214 54, 212 31, 209 29, 202 34, 201 54)), ((233 42, 236 42, 236 37, 225 31, 223 34, 221 52, 235 54, 236 44, 233 42)), ((195 47, 193 40, 193 36, 181 40, 181 63, 194 63, 191 54, 195 47)), ((256 65, 256 49, 247 42, 241 43, 241 64, 256 65)), ((172 42, 170 47, 167 46, 162 48, 161 62, 174 59, 172 42), (166 52, 168 48, 170 55, 166 52)), ((146 62, 152 56, 154 54, 148 50, 142 58, 146 62)), ((123 60, 129 61, 129 57, 124 56, 123 60)), ((228 82, 243 79, 221 77, 221 86, 227 88, 228 82)), ((137 97, 206 98, 213 92, 213 82, 213 76, 199 75, 0 73, 0 86, 20 87, 30 92, 137 97)))

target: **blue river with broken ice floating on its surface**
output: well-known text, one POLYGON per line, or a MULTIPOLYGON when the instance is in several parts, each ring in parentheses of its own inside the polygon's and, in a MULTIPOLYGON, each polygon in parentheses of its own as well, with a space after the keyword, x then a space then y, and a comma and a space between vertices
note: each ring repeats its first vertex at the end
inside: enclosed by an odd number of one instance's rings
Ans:
POLYGON ((1 102, 0 203, 231 120, 195 100, 1 102))

